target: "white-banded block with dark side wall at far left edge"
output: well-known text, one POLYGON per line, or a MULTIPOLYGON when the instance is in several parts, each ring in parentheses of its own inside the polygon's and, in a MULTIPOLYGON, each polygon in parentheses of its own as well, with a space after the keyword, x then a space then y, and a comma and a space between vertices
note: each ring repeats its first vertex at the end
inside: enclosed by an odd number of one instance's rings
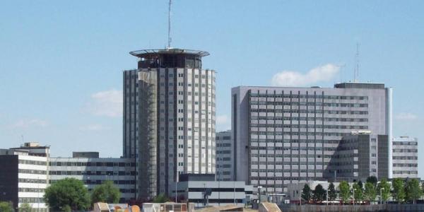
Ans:
POLYGON ((28 150, 0 150, 0 201, 11 201, 13 208, 29 204, 37 211, 47 211, 43 198, 47 166, 47 157, 31 155, 28 150))

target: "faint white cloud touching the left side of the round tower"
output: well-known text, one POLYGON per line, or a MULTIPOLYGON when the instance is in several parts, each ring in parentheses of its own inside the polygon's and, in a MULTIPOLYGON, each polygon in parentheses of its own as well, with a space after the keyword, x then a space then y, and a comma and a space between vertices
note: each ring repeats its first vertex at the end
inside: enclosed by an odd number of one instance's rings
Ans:
POLYGON ((105 117, 122 117, 122 90, 105 90, 91 95, 90 113, 105 117))

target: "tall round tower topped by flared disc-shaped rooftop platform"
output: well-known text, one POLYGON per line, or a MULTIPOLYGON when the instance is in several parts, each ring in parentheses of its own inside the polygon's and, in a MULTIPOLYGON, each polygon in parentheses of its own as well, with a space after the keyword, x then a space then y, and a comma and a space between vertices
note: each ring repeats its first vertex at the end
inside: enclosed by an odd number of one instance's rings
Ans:
POLYGON ((208 52, 130 52, 138 69, 124 71, 124 157, 134 158, 138 197, 169 196, 182 173, 215 173, 215 71, 208 52))

